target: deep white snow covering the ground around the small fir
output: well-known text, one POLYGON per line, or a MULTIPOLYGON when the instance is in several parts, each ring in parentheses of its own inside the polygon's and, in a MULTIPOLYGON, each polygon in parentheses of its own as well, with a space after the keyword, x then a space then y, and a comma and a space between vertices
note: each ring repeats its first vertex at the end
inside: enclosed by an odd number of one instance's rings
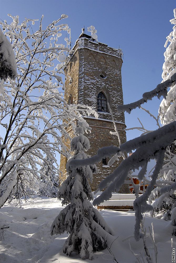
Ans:
MULTIPOLYGON (((0 261, 3 263, 79 263, 115 262, 108 250, 102 250, 94 254, 94 259, 82 260, 76 252, 73 257, 68 257, 62 252, 62 245, 68 234, 51 236, 50 228, 53 220, 63 208, 61 201, 57 198, 29 199, 27 203, 23 201, 22 208, 6 203, 0 210, 0 221, 9 224, 4 240, 0 241, 0 261)), ((130 251, 129 242, 135 254, 140 252, 144 256, 143 240, 136 242, 134 238, 123 241, 126 237, 133 235, 135 216, 134 211, 100 211, 103 218, 114 231, 112 239, 108 240, 111 250, 119 263, 138 262, 130 251)), ((154 257, 154 248, 149 236, 148 226, 153 222, 155 242, 158 248, 158 263, 172 262, 171 238, 173 238, 173 248, 176 248, 176 237, 172 236, 171 222, 145 216, 144 226, 147 229, 146 242, 150 255, 154 257)), ((143 262, 143 261, 141 261, 143 262)), ((146 262, 146 261, 145 261, 146 262)), ((154 261, 155 262, 155 261, 154 261)))

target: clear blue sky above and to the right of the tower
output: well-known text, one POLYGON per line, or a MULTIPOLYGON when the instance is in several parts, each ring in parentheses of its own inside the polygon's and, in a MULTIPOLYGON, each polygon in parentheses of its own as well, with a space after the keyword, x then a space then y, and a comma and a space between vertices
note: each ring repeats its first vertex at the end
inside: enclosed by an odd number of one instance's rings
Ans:
MULTIPOLYGON (((21 22, 27 18, 41 18, 47 26, 65 13, 64 19, 71 27, 72 46, 81 33, 81 28, 90 25, 97 29, 98 41, 110 47, 122 48, 122 85, 124 103, 141 98, 144 92, 156 87, 162 80, 165 38, 172 31, 169 20, 173 18, 175 1, 0 1, 0 18, 8 20, 7 14, 19 15, 21 22)), ((154 115, 158 113, 159 100, 144 105, 154 115)), ((139 126, 137 117, 144 126, 156 129, 155 122, 142 110, 125 114, 127 128, 139 126)), ((140 135, 138 131, 127 132, 127 139, 140 135)))

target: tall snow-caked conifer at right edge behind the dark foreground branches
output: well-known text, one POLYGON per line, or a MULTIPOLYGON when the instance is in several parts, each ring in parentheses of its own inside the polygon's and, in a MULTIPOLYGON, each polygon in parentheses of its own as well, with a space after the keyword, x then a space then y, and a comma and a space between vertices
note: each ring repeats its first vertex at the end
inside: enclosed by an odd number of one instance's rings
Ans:
MULTIPOLYGON (((174 26, 173 31, 167 36, 167 41, 164 45, 166 51, 164 52, 165 62, 163 64, 162 82, 170 79, 176 72, 176 9, 174 9, 174 18, 171 19, 170 22, 174 26)), ((159 107, 159 115, 162 125, 167 125, 176 120, 176 84, 173 83, 169 88, 166 97, 162 100, 159 107)), ((153 203, 154 210, 152 211, 152 216, 154 216, 155 213, 162 211, 162 219, 165 220, 171 219, 172 210, 176 206, 174 188, 172 188, 171 191, 162 194, 162 188, 163 185, 166 184, 165 182, 167 182, 168 185, 172 185, 176 179, 175 143, 176 142, 173 142, 173 144, 166 149, 164 165, 159 174, 161 182, 158 182, 157 188, 152 191, 149 198, 150 202, 157 198, 153 203)), ((173 225, 175 225, 175 220, 172 220, 172 222, 173 225)))

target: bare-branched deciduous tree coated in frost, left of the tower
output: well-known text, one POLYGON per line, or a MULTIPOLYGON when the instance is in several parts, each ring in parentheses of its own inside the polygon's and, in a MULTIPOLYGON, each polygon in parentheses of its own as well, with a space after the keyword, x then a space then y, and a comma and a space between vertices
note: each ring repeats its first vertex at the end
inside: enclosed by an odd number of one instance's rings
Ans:
MULTIPOLYGON (((48 163, 50 169, 59 172, 56 153, 64 151, 69 157, 62 135, 66 140, 70 138, 66 128, 71 125, 74 130, 75 121, 81 115, 79 106, 68 105, 62 93, 62 68, 71 52, 68 38, 65 38, 65 45, 60 44, 62 33, 70 33, 68 25, 62 23, 67 15, 62 14, 45 28, 43 16, 37 22, 38 27, 34 26, 36 19, 26 18, 20 24, 18 16, 8 16, 12 23, 0 22, 5 35, 1 39, 10 40, 16 57, 17 77, 1 82, 0 208, 17 181, 24 183, 26 180, 32 186, 34 178, 40 180, 38 171, 47 158, 54 161, 48 163)), ((1 49, 0 55, 4 55, 1 49)), ((2 78, 15 76, 13 70, 7 73, 8 63, 7 72, 2 68, 4 64, 0 65, 2 78)), ((82 114, 86 111, 92 113, 90 107, 82 114)))

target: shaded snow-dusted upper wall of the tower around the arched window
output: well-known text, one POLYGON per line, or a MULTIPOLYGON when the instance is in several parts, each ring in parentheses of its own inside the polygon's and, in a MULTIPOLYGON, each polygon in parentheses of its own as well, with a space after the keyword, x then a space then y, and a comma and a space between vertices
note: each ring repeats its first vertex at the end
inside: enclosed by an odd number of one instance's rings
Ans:
MULTIPOLYGON (((87 44, 85 41, 84 43, 87 44)), ((124 123, 124 113, 119 113, 116 109, 117 104, 123 104, 122 58, 97 52, 89 49, 87 45, 77 50, 79 53, 79 103, 97 108, 97 95, 102 91, 107 97, 114 119, 124 123), (100 77, 101 73, 106 75, 104 79, 100 77)), ((99 117, 109 119, 110 115, 99 112, 99 117)))

